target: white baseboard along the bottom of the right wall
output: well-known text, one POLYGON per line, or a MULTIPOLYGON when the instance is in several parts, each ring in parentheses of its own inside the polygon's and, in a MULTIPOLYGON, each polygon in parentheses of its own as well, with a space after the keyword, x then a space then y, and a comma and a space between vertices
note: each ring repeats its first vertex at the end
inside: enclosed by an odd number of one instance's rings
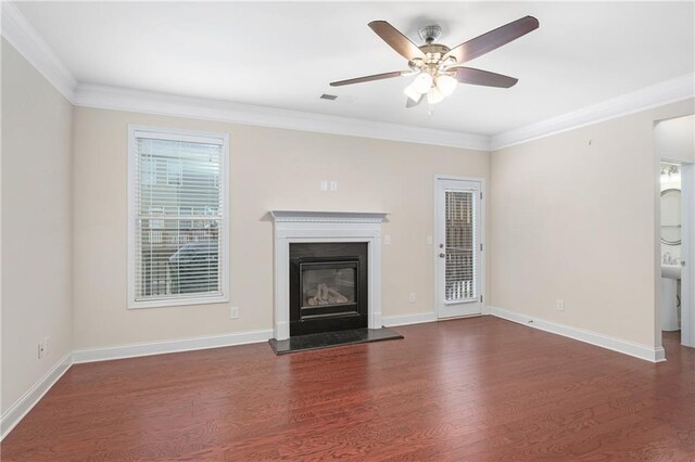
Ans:
POLYGON ((541 331, 551 332, 553 334, 563 335, 576 341, 584 342, 591 345, 611 349, 614 351, 630 355, 635 358, 644 359, 652 362, 666 361, 666 351, 664 348, 655 348, 647 345, 635 344, 633 342, 623 341, 621 338, 611 337, 599 334, 597 332, 585 331, 583 329, 571 328, 569 325, 557 324, 552 321, 545 321, 539 318, 532 318, 506 309, 490 307, 490 313, 507 321, 517 322, 529 328, 539 329, 541 331))

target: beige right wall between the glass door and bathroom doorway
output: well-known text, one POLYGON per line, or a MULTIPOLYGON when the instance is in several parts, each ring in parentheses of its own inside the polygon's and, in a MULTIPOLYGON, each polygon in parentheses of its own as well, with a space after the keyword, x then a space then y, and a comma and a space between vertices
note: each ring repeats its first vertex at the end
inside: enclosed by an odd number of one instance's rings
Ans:
POLYGON ((686 101, 492 153, 491 305, 660 345, 654 123, 692 113, 686 101))

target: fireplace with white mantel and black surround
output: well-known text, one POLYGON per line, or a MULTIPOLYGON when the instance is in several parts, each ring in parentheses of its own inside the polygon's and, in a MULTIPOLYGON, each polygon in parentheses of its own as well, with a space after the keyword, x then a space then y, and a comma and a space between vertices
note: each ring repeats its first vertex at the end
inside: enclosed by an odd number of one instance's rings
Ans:
MULTIPOLYGON (((366 318, 368 329, 382 326, 381 223, 386 216, 384 213, 374 211, 270 213, 275 234, 274 334, 277 341, 290 337, 291 307, 298 310, 299 320, 319 319, 321 315, 327 315, 326 318, 337 317, 341 321, 351 322, 352 319, 364 322, 366 318), (313 251, 309 254, 292 254, 291 247, 303 252, 301 246, 294 247, 296 244, 357 244, 363 249, 340 251, 328 255, 313 251), (305 271, 298 271, 293 258, 303 259, 305 271), (323 258, 328 260, 321 260, 323 258), (293 273, 294 282, 290 281, 290 273, 293 273), (306 287, 299 284, 299 278, 305 279, 303 282, 306 282, 306 287), (354 294, 349 290, 351 280, 355 280, 354 294), (290 300, 292 286, 301 287, 294 293, 294 301, 290 300), (312 292, 313 290, 316 292, 312 292), (314 300, 309 301, 309 298, 314 300), (305 309, 302 311, 301 308, 305 309), (315 318, 311 318, 312 316, 315 318)), ((307 322, 305 324, 308 325, 307 322)))

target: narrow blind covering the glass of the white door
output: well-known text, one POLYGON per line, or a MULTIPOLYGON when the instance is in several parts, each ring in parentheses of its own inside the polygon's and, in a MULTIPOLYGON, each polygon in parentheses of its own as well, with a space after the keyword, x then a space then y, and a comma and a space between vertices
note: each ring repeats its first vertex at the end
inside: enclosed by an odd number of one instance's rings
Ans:
POLYGON ((475 192, 446 191, 446 301, 478 297, 475 192))

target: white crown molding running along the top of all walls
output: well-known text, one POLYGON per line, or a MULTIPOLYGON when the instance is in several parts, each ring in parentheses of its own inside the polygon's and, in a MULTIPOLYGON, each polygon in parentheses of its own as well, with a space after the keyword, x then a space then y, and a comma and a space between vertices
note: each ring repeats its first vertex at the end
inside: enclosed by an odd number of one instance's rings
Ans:
POLYGON ((695 97, 695 74, 666 80, 571 113, 492 137, 220 100, 79 84, 11 1, 2 1, 2 37, 72 104, 233 124, 496 151, 695 97))

